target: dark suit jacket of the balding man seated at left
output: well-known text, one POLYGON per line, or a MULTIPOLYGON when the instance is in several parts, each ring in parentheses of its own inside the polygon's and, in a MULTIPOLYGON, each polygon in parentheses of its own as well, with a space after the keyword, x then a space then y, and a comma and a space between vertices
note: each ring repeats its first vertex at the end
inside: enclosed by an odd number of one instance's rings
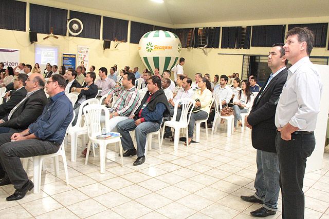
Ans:
POLYGON ((27 129, 27 127, 36 121, 41 115, 43 108, 48 104, 48 99, 43 89, 35 91, 31 96, 15 109, 10 120, 8 121, 7 113, 2 119, 5 121, 0 127, 8 127, 18 130, 27 129))

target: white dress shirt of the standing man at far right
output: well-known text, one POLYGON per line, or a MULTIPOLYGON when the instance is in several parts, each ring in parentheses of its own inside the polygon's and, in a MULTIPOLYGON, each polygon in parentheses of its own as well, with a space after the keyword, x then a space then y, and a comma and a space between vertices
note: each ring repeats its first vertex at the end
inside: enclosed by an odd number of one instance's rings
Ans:
POLYGON ((289 123, 299 131, 314 131, 321 93, 322 83, 317 69, 308 56, 301 58, 288 69, 276 111, 276 127, 282 128, 289 123))

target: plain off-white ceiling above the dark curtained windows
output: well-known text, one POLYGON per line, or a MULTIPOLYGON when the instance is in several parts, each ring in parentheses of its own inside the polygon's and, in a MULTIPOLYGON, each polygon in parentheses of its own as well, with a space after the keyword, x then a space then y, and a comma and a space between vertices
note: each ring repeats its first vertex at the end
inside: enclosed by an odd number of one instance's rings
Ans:
MULTIPOLYGON (((56 1, 68 3, 67 0, 56 1)), ((127 14, 170 25, 329 15, 328 0, 163 1, 165 2, 159 4, 151 0, 70 0, 69 4, 127 14)))

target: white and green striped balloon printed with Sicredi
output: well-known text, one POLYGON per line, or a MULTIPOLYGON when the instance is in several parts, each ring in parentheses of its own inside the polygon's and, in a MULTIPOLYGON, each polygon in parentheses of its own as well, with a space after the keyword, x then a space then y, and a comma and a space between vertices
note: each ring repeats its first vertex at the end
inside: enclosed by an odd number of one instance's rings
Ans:
POLYGON ((181 43, 177 35, 170 31, 155 30, 145 33, 139 41, 139 55, 147 68, 154 73, 159 68, 160 74, 171 70, 177 63, 181 43))

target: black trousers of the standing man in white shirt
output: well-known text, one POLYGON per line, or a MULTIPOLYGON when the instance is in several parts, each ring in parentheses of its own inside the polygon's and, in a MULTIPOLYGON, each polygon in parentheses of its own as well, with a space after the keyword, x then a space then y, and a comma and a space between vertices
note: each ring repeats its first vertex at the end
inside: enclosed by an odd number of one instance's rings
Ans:
POLYGON ((290 141, 284 141, 280 133, 276 137, 276 147, 280 167, 280 187, 282 193, 282 218, 304 218, 303 182, 306 159, 315 148, 312 134, 292 134, 290 141))

